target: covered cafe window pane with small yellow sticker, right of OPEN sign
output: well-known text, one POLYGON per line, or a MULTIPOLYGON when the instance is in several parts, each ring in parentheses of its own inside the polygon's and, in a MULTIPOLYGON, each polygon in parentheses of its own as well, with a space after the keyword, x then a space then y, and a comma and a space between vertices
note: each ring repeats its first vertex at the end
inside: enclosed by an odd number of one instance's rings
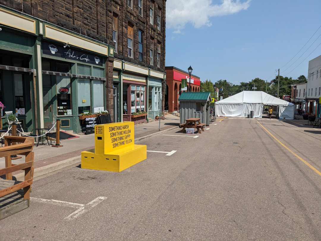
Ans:
POLYGON ((78 115, 91 112, 90 80, 78 79, 77 83, 78 115))

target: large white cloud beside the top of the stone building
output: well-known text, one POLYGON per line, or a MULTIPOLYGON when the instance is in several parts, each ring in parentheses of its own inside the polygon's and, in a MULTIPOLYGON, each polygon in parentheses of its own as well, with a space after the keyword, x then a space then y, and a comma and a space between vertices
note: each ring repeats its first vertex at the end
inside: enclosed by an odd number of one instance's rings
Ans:
POLYGON ((180 33, 187 23, 192 23, 195 28, 211 26, 211 17, 246 10, 250 1, 221 0, 219 5, 212 4, 212 0, 169 0, 166 2, 166 28, 175 28, 175 32, 180 33))

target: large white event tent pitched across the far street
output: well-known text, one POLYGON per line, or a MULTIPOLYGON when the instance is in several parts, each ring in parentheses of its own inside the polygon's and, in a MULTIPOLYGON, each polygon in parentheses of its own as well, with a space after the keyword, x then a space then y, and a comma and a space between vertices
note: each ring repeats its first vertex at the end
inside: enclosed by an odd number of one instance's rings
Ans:
POLYGON ((215 103, 216 116, 247 117, 254 111, 254 118, 262 118, 263 106, 279 106, 280 119, 293 119, 294 104, 278 99, 263 91, 242 91, 215 103))

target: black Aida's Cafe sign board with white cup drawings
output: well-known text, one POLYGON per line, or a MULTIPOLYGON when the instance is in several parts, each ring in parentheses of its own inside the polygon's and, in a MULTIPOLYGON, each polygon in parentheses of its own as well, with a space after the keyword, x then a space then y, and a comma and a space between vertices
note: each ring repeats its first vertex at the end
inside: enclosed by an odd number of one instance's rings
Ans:
POLYGON ((72 49, 69 47, 64 48, 64 46, 59 44, 42 41, 41 48, 42 48, 43 54, 47 54, 47 55, 51 55, 59 58, 76 60, 87 64, 103 66, 102 57, 95 56, 90 53, 78 51, 76 49, 72 49))

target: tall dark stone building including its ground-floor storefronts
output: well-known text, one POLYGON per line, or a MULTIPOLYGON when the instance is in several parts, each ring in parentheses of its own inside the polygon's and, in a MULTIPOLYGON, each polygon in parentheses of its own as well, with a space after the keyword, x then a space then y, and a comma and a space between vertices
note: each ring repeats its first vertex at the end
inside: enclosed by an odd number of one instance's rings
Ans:
POLYGON ((166 77, 165 3, 0 0, 3 122, 4 111, 14 110, 33 128, 59 118, 63 129, 80 132, 78 116, 101 110, 122 121, 123 86, 131 112, 146 111, 146 93, 161 93, 166 77))

